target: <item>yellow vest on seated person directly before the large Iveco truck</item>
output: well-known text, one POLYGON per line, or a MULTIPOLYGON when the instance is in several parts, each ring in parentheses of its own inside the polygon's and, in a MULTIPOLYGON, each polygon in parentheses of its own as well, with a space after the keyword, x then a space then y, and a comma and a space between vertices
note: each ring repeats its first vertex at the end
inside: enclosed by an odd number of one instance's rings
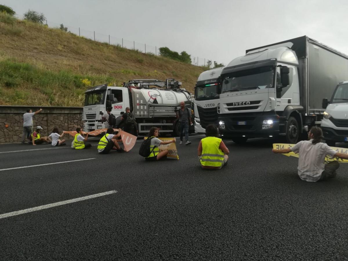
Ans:
POLYGON ((219 149, 221 139, 217 137, 206 137, 202 141, 202 158, 200 164, 203 166, 221 167, 224 153, 219 149))

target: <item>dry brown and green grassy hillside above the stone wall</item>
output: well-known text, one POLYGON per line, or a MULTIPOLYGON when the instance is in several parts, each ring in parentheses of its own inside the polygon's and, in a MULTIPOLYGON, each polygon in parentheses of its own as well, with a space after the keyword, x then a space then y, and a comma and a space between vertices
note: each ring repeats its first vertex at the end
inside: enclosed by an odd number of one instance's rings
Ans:
POLYGON ((82 106, 84 91, 130 79, 182 81, 205 69, 0 14, 0 105, 82 106))

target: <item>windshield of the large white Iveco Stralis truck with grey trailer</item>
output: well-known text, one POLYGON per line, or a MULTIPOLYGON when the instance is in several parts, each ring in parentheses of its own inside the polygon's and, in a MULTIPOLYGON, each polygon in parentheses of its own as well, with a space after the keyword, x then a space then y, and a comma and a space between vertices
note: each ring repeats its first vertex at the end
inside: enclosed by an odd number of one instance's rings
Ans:
POLYGON ((272 88, 274 86, 273 79, 273 66, 232 72, 223 76, 221 92, 272 88))

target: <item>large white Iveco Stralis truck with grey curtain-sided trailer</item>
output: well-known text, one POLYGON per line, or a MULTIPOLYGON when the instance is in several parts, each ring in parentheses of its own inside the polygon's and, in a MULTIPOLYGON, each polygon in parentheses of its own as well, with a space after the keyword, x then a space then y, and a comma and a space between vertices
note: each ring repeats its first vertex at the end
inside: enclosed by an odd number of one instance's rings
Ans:
POLYGON ((296 143, 320 125, 323 98, 348 79, 348 56, 307 36, 246 50, 221 72, 219 129, 236 143, 296 143))

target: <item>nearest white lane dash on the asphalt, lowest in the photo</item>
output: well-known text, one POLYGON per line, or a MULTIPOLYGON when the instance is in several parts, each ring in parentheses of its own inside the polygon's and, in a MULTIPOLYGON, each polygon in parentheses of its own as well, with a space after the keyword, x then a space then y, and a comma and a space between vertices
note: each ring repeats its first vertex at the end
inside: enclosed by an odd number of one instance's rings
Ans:
POLYGON ((85 197, 81 197, 81 198, 74 198, 74 199, 64 200, 64 201, 60 201, 60 202, 56 202, 56 203, 52 203, 52 204, 42 205, 39 207, 32 207, 32 208, 27 208, 27 209, 23 209, 23 210, 14 211, 14 212, 9 212, 9 213, 5 213, 5 214, 1 214, 0 219, 3 219, 5 217, 10 217, 10 216, 17 216, 17 215, 21 215, 21 214, 25 214, 25 213, 29 213, 29 212, 33 212, 33 211, 38 211, 38 210, 45 209, 45 208, 57 207, 57 206, 65 205, 65 204, 70 204, 70 203, 78 202, 81 200, 102 197, 102 196, 110 195, 113 193, 117 193, 117 191, 110 190, 110 191, 97 193, 97 194, 93 194, 93 195, 89 195, 89 196, 85 196, 85 197))

